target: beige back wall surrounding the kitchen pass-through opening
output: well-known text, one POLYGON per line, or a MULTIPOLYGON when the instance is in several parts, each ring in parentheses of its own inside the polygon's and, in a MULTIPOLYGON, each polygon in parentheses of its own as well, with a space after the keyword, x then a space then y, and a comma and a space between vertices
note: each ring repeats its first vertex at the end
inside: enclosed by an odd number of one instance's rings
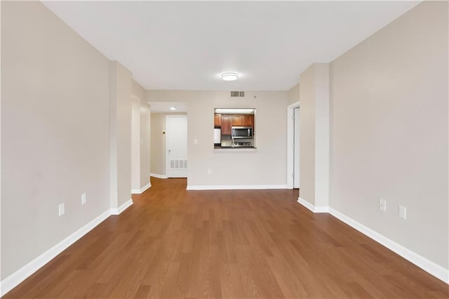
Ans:
MULTIPOLYGON (((189 186, 286 185, 287 91, 246 91, 246 97, 238 100, 230 98, 229 91, 147 91, 146 99, 187 102, 189 186), (216 107, 256 108, 255 152, 213 150, 216 107), (198 145, 194 145, 194 139, 198 145), (212 170, 210 175, 208 168, 212 170)), ((152 159, 152 172, 155 163, 152 159)))

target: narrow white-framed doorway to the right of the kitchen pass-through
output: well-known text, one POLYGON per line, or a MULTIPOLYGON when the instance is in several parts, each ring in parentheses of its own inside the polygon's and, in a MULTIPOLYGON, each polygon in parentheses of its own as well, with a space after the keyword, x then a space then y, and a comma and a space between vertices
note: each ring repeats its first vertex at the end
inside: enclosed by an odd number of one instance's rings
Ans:
POLYGON ((287 107, 287 187, 300 188, 300 102, 287 107))

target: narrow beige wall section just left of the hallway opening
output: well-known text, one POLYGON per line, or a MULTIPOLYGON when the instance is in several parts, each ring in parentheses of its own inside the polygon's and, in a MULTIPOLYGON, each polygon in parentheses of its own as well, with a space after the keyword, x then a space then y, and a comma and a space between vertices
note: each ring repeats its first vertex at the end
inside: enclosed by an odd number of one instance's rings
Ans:
POLYGON ((151 114, 149 105, 143 100, 140 101, 140 188, 149 183, 151 173, 150 164, 150 130, 151 114))

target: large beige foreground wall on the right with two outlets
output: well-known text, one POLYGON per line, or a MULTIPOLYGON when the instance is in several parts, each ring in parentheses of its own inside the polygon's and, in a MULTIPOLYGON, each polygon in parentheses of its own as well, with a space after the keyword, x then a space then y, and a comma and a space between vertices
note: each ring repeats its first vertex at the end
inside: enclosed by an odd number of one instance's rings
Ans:
POLYGON ((424 1, 331 64, 330 206, 446 269, 448 79, 445 1, 424 1))

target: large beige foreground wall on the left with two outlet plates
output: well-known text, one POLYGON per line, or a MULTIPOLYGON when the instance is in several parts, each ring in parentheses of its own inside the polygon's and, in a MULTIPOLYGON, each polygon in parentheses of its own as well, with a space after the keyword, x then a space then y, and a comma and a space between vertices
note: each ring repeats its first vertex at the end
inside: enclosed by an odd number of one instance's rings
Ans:
POLYGON ((1 64, 4 279, 109 210, 109 64, 31 1, 1 3, 1 64))

